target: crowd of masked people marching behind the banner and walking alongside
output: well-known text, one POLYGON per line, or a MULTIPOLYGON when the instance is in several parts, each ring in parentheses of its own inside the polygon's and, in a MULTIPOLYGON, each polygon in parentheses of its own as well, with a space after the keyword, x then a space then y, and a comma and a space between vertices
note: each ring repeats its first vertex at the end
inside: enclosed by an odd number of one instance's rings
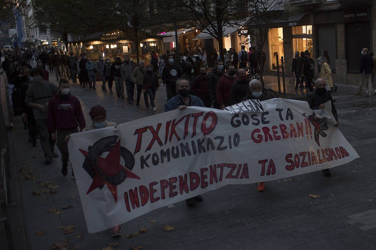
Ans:
MULTIPOLYGON (((259 63, 265 63, 262 50, 250 48, 250 52, 242 46, 224 51, 224 57, 218 51, 211 58, 214 67, 208 72, 205 49, 188 46, 184 52, 176 49, 167 50, 157 55, 151 52, 149 64, 139 61, 138 66, 130 60, 129 55, 109 58, 99 57, 97 62, 87 58, 85 54, 74 56, 57 49, 38 51, 36 49, 15 49, 5 51, 3 70, 8 79, 8 87, 12 87, 12 104, 15 115, 21 115, 25 129, 29 130, 29 142, 37 145, 37 138, 45 156, 45 164, 53 163, 58 157, 55 144, 61 152, 61 173, 68 174, 68 140, 72 133, 85 130, 116 127, 116 123, 106 120, 106 110, 102 106, 93 106, 89 112, 91 121, 88 125, 83 116, 80 100, 74 96, 70 86, 79 84, 96 90, 97 76, 102 84, 102 91, 112 93, 112 83, 118 98, 127 99, 129 104, 140 105, 143 96, 145 106, 156 111, 155 97, 161 94, 160 86, 165 86, 167 102, 164 111, 186 109, 187 106, 200 106, 223 109, 244 100, 267 100, 270 97, 263 92, 263 85, 256 79, 250 79, 248 73, 259 73, 259 63), (222 60, 222 59, 224 60, 222 60), (31 64, 36 61, 36 67, 31 64), (48 67, 47 67, 48 66, 48 67), (49 70, 48 70, 49 69, 49 70), (49 74, 55 71, 58 85, 49 80, 49 74), (77 81, 78 79, 78 81, 77 81), (124 92, 124 85, 125 91, 124 92), (135 93, 136 92, 136 93, 135 93), (126 95, 126 97, 125 97, 126 95)), ((363 82, 367 81, 367 96, 374 93, 372 81, 375 75, 375 59, 368 49, 361 55, 361 84, 357 95, 361 96, 363 82)), ((296 79, 296 89, 306 88, 306 101, 311 109, 324 109, 329 102, 334 115, 335 126, 338 116, 332 93, 337 90, 331 79, 330 58, 324 51, 317 58, 320 77, 314 79, 315 63, 309 51, 296 52, 292 64, 292 73, 296 79), (305 85, 303 85, 303 82, 305 85)), ((330 176, 329 169, 323 175, 330 176)), ((72 177, 74 172, 72 170, 72 177)), ((258 183, 258 191, 265 191, 265 183, 258 183)), ((186 200, 186 204, 194 207, 196 202, 203 201, 202 196, 186 200)), ((121 234, 120 226, 113 229, 112 235, 121 234)))

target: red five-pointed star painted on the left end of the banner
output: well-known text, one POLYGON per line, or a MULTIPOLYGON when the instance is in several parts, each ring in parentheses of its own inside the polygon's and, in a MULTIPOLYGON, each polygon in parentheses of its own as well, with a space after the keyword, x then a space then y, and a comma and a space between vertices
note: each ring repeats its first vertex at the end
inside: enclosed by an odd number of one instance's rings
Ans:
MULTIPOLYGON (((81 153, 86 157, 88 156, 88 151, 80 149, 81 153)), ((126 171, 126 177, 127 178, 134 178, 134 179, 140 179, 136 174, 133 174, 129 169, 125 168, 120 164, 120 139, 114 147, 112 147, 111 151, 108 153, 106 158, 98 157, 98 167, 103 172, 103 174, 114 177, 117 175, 121 170, 126 171)), ((108 181, 104 180, 103 177, 99 174, 98 170, 94 168, 96 175, 93 178, 93 181, 91 183, 91 186, 89 187, 88 193, 90 193, 92 190, 97 189, 100 186, 103 186, 104 184, 107 185, 108 189, 112 193, 112 196, 114 196, 115 202, 117 202, 117 185, 111 184, 108 181)))

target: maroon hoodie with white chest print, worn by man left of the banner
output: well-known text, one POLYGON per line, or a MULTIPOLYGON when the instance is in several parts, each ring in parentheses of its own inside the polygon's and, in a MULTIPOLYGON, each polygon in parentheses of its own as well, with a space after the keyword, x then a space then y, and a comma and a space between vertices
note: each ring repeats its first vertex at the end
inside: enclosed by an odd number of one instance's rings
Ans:
POLYGON ((48 129, 51 133, 86 127, 81 103, 76 96, 61 97, 55 95, 48 105, 48 129))

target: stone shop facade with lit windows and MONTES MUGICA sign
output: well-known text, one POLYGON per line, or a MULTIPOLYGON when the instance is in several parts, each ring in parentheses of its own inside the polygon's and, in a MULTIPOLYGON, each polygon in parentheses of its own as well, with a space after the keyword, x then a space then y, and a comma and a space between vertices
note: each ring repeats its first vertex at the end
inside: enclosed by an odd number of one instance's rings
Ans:
MULTIPOLYGON (((308 50, 316 58, 327 51, 335 83, 358 85, 363 48, 376 45, 375 0, 291 0, 299 8, 285 22, 273 24, 263 49, 267 55, 264 72, 276 75, 277 58, 284 57, 286 76, 291 75, 295 51, 308 50), (277 53, 276 53, 277 52, 277 53)), ((316 64, 315 75, 319 75, 316 64)))

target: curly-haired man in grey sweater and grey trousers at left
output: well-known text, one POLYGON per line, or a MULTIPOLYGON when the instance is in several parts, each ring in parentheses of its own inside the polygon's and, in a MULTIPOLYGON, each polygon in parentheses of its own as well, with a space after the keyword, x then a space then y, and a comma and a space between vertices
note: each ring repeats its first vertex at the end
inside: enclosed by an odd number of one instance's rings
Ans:
POLYGON ((55 141, 47 129, 48 103, 58 92, 59 88, 52 82, 43 79, 43 71, 39 68, 30 70, 30 76, 35 80, 35 84, 30 85, 26 92, 25 102, 33 108, 36 127, 45 157, 45 164, 53 162, 52 157, 58 157, 55 153, 55 141))

